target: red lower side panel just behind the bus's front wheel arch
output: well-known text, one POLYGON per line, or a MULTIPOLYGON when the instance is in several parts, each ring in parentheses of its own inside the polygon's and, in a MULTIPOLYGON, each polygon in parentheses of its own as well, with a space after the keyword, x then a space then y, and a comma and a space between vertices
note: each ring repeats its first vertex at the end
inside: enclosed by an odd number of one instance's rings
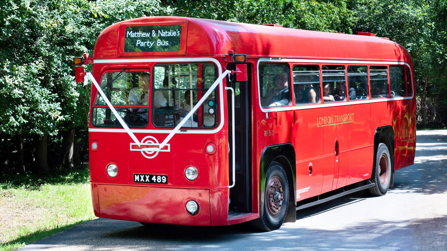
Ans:
POLYGON ((323 179, 333 180, 333 167, 326 172, 323 155, 323 128, 318 127, 322 109, 295 111, 296 199, 319 195, 323 179), (312 167, 312 172, 310 171, 312 167))

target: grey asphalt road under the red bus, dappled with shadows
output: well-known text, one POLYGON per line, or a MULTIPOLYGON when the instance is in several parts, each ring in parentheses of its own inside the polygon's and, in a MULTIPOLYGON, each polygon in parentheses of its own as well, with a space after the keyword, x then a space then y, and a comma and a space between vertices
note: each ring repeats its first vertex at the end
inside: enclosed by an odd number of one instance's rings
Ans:
POLYGON ((341 197, 298 211, 297 222, 276 231, 97 219, 20 250, 447 251, 447 130, 417 132, 415 163, 396 172, 385 196, 341 197))

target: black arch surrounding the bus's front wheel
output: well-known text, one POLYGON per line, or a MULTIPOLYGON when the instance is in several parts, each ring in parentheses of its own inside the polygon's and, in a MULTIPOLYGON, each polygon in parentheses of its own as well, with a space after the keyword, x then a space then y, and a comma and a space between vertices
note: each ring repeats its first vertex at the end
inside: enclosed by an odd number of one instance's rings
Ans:
POLYGON ((287 175, 289 184, 289 207, 287 209, 285 222, 295 222, 296 220, 296 168, 295 168, 295 148, 291 143, 266 146, 262 151, 259 168, 259 212, 264 211, 264 191, 266 186, 266 175, 272 161, 279 162, 287 175), (291 205, 293 205, 291 209, 291 205), (293 214, 293 215, 292 215, 293 214))

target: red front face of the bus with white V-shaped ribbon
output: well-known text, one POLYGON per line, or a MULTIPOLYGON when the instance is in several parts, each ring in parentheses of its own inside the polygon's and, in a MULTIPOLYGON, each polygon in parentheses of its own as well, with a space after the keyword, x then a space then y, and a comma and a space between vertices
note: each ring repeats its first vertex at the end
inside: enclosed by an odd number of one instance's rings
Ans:
POLYGON ((98 38, 89 125, 97 217, 228 224, 227 71, 222 57, 181 56, 187 27, 121 22, 98 38))

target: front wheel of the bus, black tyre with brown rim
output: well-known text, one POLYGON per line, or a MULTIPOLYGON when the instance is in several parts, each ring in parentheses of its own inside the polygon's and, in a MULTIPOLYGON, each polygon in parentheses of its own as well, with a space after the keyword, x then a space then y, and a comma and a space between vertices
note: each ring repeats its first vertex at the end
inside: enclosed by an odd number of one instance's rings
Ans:
POLYGON ((289 184, 283 166, 273 161, 267 170, 264 208, 252 226, 261 231, 278 229, 284 222, 289 202, 289 184))

